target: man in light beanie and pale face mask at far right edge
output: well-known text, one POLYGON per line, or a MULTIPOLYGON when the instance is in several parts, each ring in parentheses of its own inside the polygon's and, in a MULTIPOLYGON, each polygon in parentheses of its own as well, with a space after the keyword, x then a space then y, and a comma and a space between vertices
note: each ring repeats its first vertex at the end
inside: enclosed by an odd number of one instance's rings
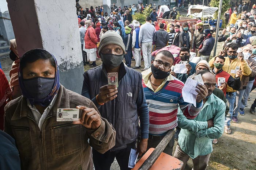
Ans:
POLYGON ((251 58, 252 55, 252 45, 246 45, 242 53, 244 54, 244 59, 252 69, 252 73, 249 76, 242 76, 241 87, 237 90, 236 94, 236 107, 234 112, 244 115, 244 108, 247 104, 249 93, 251 92, 254 78, 256 76, 256 61, 251 58))

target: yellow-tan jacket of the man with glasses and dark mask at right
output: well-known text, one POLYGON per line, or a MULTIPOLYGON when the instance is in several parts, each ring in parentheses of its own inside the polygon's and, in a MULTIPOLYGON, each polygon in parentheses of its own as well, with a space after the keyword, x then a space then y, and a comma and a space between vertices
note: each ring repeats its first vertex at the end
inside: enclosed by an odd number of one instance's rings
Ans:
MULTIPOLYGON (((214 57, 209 61, 210 67, 214 67, 214 57)), ((222 69, 229 73, 233 78, 236 77, 236 74, 231 73, 231 70, 235 70, 236 66, 239 66, 240 69, 242 70, 242 76, 250 76, 252 73, 252 69, 251 67, 248 65, 248 63, 245 60, 240 61, 239 58, 235 58, 233 60, 231 60, 229 57, 225 57, 225 62, 224 65, 222 67, 222 69)), ((242 81, 242 76, 241 81, 242 81)), ((249 78, 248 78, 249 80, 249 78)), ((243 85, 244 83, 241 82, 241 84, 243 85)), ((232 89, 231 87, 227 86, 227 92, 236 92, 236 90, 232 89)))

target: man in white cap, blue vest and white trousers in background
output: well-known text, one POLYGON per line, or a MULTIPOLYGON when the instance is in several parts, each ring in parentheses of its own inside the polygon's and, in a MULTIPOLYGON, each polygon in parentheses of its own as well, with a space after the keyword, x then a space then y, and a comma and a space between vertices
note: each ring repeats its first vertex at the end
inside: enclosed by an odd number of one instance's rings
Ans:
POLYGON ((140 23, 138 21, 134 22, 134 27, 135 29, 132 32, 132 48, 134 51, 135 66, 132 68, 139 69, 140 63, 141 63, 141 53, 140 53, 140 46, 139 46, 140 23))

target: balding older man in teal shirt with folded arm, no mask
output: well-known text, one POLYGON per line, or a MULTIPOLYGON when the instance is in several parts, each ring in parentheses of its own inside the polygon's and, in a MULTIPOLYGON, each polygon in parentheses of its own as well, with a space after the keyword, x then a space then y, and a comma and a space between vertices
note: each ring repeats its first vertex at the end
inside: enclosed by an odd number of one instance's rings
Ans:
POLYGON ((215 76, 209 70, 199 72, 208 95, 203 99, 203 108, 194 120, 187 119, 181 110, 178 111, 178 126, 181 132, 174 157, 185 166, 192 158, 193 170, 205 170, 212 152, 212 141, 222 136, 224 130, 225 103, 215 96, 215 76))

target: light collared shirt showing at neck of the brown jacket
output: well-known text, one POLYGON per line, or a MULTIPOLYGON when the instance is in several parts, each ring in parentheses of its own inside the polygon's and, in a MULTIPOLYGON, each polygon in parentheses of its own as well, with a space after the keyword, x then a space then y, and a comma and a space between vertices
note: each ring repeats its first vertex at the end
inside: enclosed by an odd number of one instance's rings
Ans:
POLYGON ((38 109, 34 106, 32 106, 29 102, 29 100, 27 99, 27 106, 31 109, 33 115, 34 115, 34 118, 35 118, 35 122, 37 123, 40 131, 42 131, 42 126, 43 126, 43 123, 48 115, 48 113, 50 112, 50 109, 52 109, 55 101, 56 101, 56 97, 57 94, 53 97, 51 103, 49 104, 49 106, 44 110, 44 113, 41 114, 38 109))

